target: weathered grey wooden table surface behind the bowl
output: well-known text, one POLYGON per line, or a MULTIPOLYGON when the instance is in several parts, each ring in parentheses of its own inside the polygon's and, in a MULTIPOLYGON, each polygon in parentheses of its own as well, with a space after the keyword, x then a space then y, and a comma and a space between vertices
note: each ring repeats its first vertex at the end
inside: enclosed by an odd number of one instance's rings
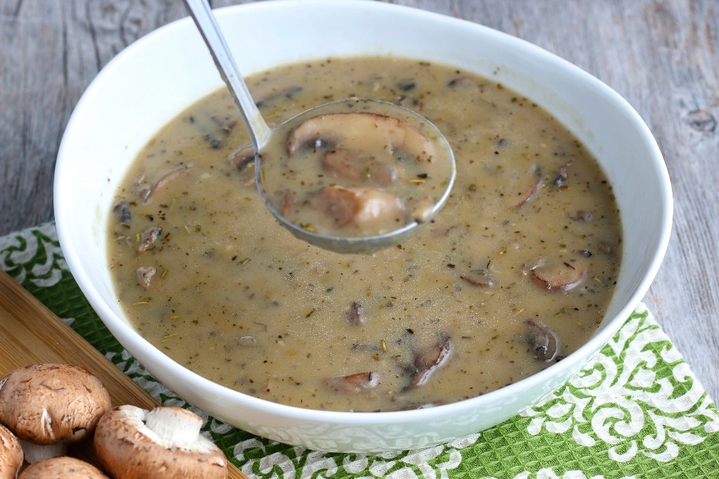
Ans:
MULTIPOLYGON (((244 2, 213 6, 230 3, 244 2)), ((645 301, 719 400, 719 1, 392 3, 544 47, 608 83, 644 118, 674 189, 672 240, 645 301)), ((58 146, 96 73, 184 16, 180 0, 0 0, 0 235, 52 219, 58 146)))

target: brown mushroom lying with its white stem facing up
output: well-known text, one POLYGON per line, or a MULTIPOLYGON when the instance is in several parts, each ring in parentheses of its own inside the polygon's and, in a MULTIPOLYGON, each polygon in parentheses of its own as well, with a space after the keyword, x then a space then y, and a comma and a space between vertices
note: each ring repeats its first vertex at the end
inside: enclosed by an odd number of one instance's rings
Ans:
MULTIPOLYGON (((154 421, 153 421, 154 422, 154 421)), ((226 479, 227 459, 214 442, 199 433, 202 419, 181 408, 119 406, 105 414, 95 431, 100 464, 115 479, 226 479), (146 426, 156 411, 168 413, 163 428, 187 432, 154 432, 146 426), (186 437, 178 440, 178 437, 186 437), (175 437, 175 438, 173 438, 175 437)))

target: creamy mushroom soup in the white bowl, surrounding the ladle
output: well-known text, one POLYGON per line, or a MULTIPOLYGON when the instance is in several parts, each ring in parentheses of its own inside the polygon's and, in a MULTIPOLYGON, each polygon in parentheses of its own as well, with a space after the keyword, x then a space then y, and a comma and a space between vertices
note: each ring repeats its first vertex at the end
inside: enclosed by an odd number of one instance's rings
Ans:
POLYGON ((612 188, 565 127, 501 84, 354 58, 249 78, 265 118, 357 96, 416 109, 452 144, 436 219, 374 255, 307 245, 262 204, 222 90, 157 134, 117 192, 124 311, 180 364, 269 401, 390 411, 478 396, 577 350, 618 275, 612 188))

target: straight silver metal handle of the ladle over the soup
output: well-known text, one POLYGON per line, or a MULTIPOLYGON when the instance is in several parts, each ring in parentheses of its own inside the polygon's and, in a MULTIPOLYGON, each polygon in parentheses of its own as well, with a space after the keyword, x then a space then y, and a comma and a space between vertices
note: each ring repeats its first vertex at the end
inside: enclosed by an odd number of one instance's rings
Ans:
POLYGON ((267 136, 270 134, 270 127, 262 118, 255 100, 252 99, 252 95, 249 93, 247 84, 242 79, 242 74, 239 73, 237 64, 234 63, 234 58, 232 58, 229 47, 227 47, 227 42, 216 22, 212 9, 207 0, 183 1, 203 40, 205 40, 212 58, 215 60, 215 65, 217 65, 222 80, 226 83, 234 102, 242 113, 244 124, 249 129, 252 146, 255 147, 255 152, 258 152, 260 146, 265 143, 267 136))

